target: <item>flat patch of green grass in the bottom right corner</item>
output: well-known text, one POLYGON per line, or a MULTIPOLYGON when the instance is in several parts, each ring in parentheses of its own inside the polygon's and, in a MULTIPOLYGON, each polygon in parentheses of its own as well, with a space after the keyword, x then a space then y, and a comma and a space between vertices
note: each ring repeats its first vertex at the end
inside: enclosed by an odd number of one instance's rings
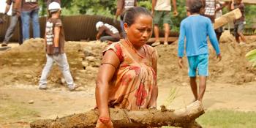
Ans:
POLYGON ((256 112, 207 110, 200 118, 197 118, 197 123, 207 128, 254 128, 256 127, 256 112))

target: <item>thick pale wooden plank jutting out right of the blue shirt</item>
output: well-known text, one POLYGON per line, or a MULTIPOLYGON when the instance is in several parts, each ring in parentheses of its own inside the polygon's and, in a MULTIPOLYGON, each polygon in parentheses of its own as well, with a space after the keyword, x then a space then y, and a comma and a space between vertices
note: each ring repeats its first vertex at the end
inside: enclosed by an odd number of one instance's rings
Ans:
POLYGON ((241 16, 242 14, 239 9, 228 12, 225 15, 222 15, 221 17, 215 19, 214 29, 218 29, 221 26, 225 26, 225 24, 233 22, 233 20, 241 18, 241 16))

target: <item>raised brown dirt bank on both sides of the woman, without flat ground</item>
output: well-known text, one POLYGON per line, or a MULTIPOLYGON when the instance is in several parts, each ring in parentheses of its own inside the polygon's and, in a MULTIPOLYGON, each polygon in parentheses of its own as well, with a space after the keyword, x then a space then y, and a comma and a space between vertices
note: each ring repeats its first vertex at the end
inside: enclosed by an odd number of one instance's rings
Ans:
MULTIPOLYGON (((65 51, 72 77, 78 86, 94 86, 102 59, 102 50, 107 44, 102 42, 67 42, 65 51)), ((158 80, 170 79, 173 83, 188 82, 187 63, 184 69, 178 68, 177 42, 172 45, 159 45, 158 80)), ((256 42, 237 45, 236 42, 220 44, 222 61, 215 59, 214 49, 210 46, 208 80, 218 83, 241 84, 256 80, 256 69, 245 59, 245 54, 256 48, 256 42)), ((17 48, 0 54, 0 85, 22 83, 37 85, 45 65, 43 39, 29 39, 17 48)), ((184 59, 187 61, 187 59, 184 59)), ((48 78, 48 85, 64 85, 64 78, 54 66, 48 78)))

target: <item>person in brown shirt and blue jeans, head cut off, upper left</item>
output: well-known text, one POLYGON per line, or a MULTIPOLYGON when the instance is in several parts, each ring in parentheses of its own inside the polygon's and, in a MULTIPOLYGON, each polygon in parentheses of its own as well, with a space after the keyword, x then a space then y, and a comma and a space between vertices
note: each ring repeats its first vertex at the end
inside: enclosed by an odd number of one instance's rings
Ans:
POLYGON ((23 0, 22 1, 22 28, 23 28, 23 41, 30 38, 30 19, 33 24, 33 37, 40 37, 40 28, 39 28, 39 3, 38 0, 23 0))

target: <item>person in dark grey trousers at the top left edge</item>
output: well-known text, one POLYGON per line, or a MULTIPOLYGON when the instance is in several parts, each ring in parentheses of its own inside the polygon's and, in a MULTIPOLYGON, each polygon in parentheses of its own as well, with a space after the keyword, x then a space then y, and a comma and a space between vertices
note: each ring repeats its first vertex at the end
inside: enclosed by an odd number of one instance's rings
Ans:
POLYGON ((11 4, 12 4, 12 17, 10 21, 10 26, 8 27, 5 37, 4 37, 4 42, 1 44, 2 47, 7 46, 8 42, 10 41, 13 32, 15 31, 15 26, 17 23, 19 23, 19 44, 21 45, 23 43, 22 39, 22 24, 21 24, 21 18, 20 18, 20 0, 7 0, 6 1, 7 6, 5 7, 5 12, 4 12, 4 19, 7 17, 7 12, 9 12, 11 4), (17 1, 17 2, 16 2, 17 1))

